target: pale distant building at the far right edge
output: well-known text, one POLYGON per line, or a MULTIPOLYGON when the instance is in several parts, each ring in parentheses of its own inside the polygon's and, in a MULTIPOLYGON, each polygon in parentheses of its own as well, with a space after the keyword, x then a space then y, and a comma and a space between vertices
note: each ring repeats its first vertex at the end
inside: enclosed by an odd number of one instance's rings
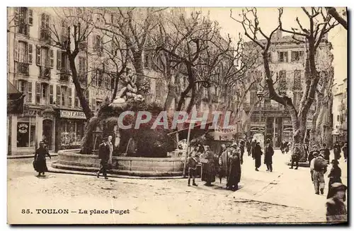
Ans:
POLYGON ((348 139, 348 92, 347 78, 333 87, 333 143, 348 139))

